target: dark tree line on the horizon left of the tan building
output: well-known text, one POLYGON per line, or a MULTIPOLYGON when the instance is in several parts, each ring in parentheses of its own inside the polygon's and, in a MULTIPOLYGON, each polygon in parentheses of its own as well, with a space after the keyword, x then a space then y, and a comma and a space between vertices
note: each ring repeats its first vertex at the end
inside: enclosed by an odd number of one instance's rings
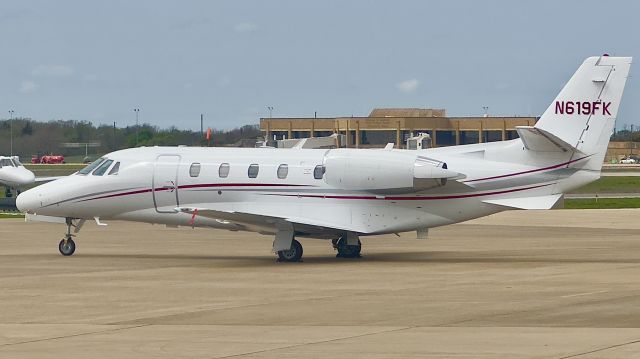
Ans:
POLYGON ((246 125, 232 130, 212 130, 207 141, 200 131, 180 130, 175 126, 162 129, 148 123, 139 127, 95 126, 89 121, 59 120, 36 122, 29 118, 0 121, 0 155, 11 152, 13 132, 13 154, 28 161, 31 156, 59 154, 84 155, 85 147, 69 148, 65 143, 96 143, 89 154, 104 154, 124 148, 138 146, 253 146, 260 136, 258 125, 246 125))

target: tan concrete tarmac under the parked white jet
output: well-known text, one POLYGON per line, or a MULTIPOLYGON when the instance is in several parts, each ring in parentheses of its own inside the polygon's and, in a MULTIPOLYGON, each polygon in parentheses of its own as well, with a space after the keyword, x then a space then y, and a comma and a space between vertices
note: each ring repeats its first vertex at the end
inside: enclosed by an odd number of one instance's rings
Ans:
POLYGON ((640 357, 640 210, 506 212, 363 239, 0 220, 0 358, 640 357))

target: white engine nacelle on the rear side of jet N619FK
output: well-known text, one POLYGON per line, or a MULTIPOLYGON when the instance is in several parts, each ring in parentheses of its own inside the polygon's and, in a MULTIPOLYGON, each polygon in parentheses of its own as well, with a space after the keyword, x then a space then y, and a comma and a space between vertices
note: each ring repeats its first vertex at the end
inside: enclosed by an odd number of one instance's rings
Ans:
POLYGON ((373 193, 411 193, 444 186, 459 173, 415 152, 332 150, 324 159, 325 182, 373 193))

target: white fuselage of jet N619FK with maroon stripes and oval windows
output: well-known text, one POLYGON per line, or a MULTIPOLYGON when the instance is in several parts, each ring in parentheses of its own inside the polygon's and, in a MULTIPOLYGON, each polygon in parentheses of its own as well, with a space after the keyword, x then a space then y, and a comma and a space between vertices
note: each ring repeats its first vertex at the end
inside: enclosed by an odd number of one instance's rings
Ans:
MULTIPOLYGON (((599 176, 599 172, 577 169, 574 165, 584 159, 568 154, 525 154, 519 139, 421 151, 147 147, 116 151, 103 159, 86 173, 24 192, 18 207, 56 217, 276 232, 273 221, 252 221, 246 216, 255 214, 301 223, 298 233, 312 237, 339 231, 372 235, 486 216, 507 209, 487 199, 562 193, 599 176), (332 156, 349 157, 361 151, 371 158, 407 163, 428 158, 446 163, 448 170, 461 176, 418 191, 372 191, 330 185, 327 178, 332 169, 318 171, 332 156), (245 217, 216 219, 183 213, 179 209, 184 207, 245 217)), ((339 181, 360 180, 363 171, 368 171, 364 180, 369 181, 390 175, 383 164, 373 161, 347 168, 339 181)))

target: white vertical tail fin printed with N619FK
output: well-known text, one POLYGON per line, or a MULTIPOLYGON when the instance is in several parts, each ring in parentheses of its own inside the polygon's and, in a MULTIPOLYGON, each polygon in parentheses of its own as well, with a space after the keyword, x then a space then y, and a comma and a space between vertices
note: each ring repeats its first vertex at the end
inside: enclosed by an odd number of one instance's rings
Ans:
POLYGON ((631 57, 590 57, 564 86, 535 128, 590 155, 585 169, 600 170, 613 133, 631 57))

